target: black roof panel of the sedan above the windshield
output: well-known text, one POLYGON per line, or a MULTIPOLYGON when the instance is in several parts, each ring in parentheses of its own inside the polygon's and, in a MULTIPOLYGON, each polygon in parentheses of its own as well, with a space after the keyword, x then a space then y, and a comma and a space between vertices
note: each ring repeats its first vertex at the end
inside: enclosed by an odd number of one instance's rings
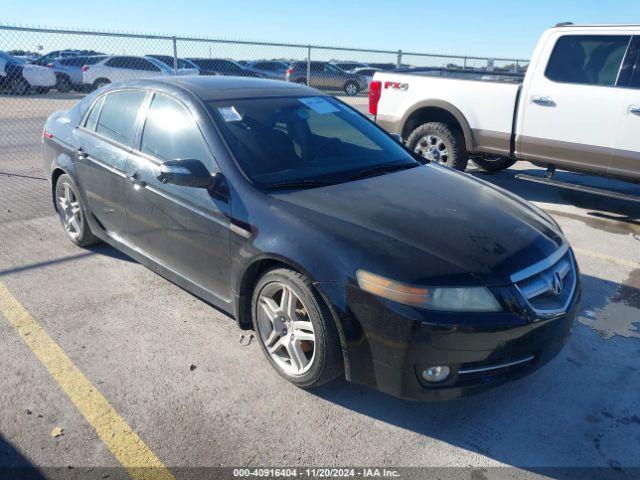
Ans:
POLYGON ((266 80, 262 78, 232 77, 232 76, 197 76, 184 75, 173 77, 158 77, 147 80, 131 80, 128 82, 112 83, 113 88, 136 87, 156 88, 175 93, 191 93, 202 101, 259 98, 259 97, 290 97, 295 95, 322 95, 314 88, 282 80, 266 80))

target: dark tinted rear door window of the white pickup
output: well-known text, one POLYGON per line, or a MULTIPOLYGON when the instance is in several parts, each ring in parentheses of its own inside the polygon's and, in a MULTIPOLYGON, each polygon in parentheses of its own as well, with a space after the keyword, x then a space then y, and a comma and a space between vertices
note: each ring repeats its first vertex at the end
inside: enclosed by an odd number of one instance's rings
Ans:
POLYGON ((629 35, 566 35, 556 42, 545 71, 561 83, 614 86, 629 35))

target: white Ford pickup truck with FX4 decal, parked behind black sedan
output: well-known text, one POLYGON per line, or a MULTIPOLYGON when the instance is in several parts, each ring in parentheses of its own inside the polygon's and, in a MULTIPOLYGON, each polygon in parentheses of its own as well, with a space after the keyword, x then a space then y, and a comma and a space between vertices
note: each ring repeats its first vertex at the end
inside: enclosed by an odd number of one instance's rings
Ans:
POLYGON ((528 160, 551 174, 640 180, 640 25, 551 28, 524 79, 445 73, 376 73, 370 113, 410 149, 458 170, 469 158, 489 171, 528 160))

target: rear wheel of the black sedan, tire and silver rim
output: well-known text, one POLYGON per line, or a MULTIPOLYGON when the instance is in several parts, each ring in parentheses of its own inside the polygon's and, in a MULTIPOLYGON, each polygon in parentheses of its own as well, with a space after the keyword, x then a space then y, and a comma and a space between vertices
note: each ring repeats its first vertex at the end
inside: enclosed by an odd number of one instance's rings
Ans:
POLYGON ((56 182, 55 201, 60 223, 69 240, 80 247, 88 247, 100 241, 87 223, 87 210, 78 193, 78 187, 67 174, 60 175, 56 182), (70 217, 75 220, 70 221, 70 217))

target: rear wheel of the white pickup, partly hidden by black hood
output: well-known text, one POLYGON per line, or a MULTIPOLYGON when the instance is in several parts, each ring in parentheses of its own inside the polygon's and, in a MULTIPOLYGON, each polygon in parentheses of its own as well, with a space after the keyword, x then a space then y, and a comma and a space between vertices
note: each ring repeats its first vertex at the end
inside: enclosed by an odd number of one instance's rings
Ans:
POLYGON ((462 132, 448 123, 429 122, 418 126, 409 135, 407 148, 430 161, 461 172, 469 163, 462 132))

